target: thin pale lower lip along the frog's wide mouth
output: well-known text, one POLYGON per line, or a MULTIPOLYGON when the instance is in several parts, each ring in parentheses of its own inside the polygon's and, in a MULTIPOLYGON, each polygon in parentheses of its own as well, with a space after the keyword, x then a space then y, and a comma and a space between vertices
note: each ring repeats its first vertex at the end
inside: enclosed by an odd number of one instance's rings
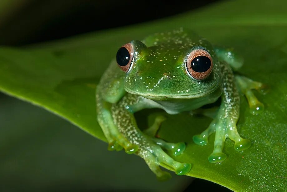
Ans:
POLYGON ((167 100, 167 99, 192 99, 192 98, 200 98, 204 97, 205 95, 208 95, 212 92, 214 92, 216 89, 219 89, 219 85, 212 87, 211 89, 208 89, 203 92, 199 93, 194 93, 194 94, 188 94, 188 93, 178 93, 176 95, 153 95, 153 94, 148 94, 148 93, 140 93, 140 92, 135 92, 129 89, 126 89, 126 92, 130 94, 135 94, 135 95, 140 95, 144 98, 147 99, 152 99, 152 100, 167 100))

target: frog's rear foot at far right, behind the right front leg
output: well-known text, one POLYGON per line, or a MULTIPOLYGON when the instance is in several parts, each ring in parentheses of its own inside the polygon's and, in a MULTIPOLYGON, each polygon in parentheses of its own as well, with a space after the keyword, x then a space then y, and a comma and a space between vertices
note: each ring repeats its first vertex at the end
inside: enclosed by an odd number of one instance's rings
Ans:
POLYGON ((261 113, 264 110, 264 105, 258 101, 255 95, 252 93, 252 89, 263 92, 266 86, 260 82, 253 81, 247 77, 236 76, 236 82, 239 84, 239 87, 242 93, 246 96, 250 112, 252 114, 261 113))

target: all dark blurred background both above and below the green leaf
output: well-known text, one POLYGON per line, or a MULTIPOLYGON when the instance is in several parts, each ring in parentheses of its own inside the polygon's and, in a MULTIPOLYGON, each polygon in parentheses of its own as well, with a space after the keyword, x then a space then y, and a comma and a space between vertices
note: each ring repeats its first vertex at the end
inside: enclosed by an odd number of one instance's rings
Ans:
MULTIPOLYGON (((22 0, 20 3, 19 0, 11 10, 7 10, 9 14, 0 19, 0 45, 25 46, 135 25, 196 11, 216 2, 22 0)), ((0 99, 2 191, 230 191, 209 181, 174 174, 170 182, 159 184, 138 157, 107 151, 105 143, 43 109, 5 95, 0 95, 0 99), (95 146, 98 147, 95 149, 95 146), (105 163, 110 166, 107 173, 101 172, 103 167, 101 169, 100 166, 105 166, 105 163), (141 168, 137 169, 139 166, 141 168), (120 168, 116 171, 112 167, 120 168), (136 175, 131 170, 137 171, 136 175), (105 178, 111 173, 115 176, 105 178), (148 187, 137 187, 133 178, 138 178, 143 186, 148 187), (135 186, 123 186, 129 182, 134 182, 135 186)))

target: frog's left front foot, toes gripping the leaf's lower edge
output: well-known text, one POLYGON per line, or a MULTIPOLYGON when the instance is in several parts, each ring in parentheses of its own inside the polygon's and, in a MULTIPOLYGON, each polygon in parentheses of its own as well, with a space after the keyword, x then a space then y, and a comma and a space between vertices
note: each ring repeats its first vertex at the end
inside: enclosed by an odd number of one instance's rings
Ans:
MULTIPOLYGON (((167 180, 170 178, 170 174, 168 172, 162 171, 159 168, 160 164, 167 165, 169 167, 172 167, 175 170, 175 173, 177 175, 185 175, 187 174, 191 169, 190 163, 180 163, 178 161, 173 160, 172 157, 170 157, 168 154, 166 154, 161 146, 164 148, 171 149, 172 146, 169 145, 170 143, 164 142, 160 139, 157 139, 158 142, 161 142, 161 144, 149 144, 148 147, 140 148, 139 149, 139 155, 144 158, 146 163, 148 164, 149 168, 157 175, 158 180, 167 180)), ((185 148, 185 144, 178 143, 179 148, 183 149, 185 148)), ((178 147, 177 146, 177 147, 178 147)), ((178 148, 178 149, 179 149, 178 148)), ((181 151, 181 150, 179 150, 181 151)))

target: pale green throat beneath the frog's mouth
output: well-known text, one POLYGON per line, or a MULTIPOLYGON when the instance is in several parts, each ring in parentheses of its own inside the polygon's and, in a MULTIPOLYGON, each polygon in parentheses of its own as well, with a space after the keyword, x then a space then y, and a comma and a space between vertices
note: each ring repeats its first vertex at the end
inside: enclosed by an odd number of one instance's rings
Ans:
POLYGON ((191 111, 200 108, 206 104, 214 103, 221 96, 221 94, 221 89, 218 88, 214 92, 200 98, 154 101, 159 104, 159 108, 164 109, 167 113, 177 114, 183 111, 191 111))

